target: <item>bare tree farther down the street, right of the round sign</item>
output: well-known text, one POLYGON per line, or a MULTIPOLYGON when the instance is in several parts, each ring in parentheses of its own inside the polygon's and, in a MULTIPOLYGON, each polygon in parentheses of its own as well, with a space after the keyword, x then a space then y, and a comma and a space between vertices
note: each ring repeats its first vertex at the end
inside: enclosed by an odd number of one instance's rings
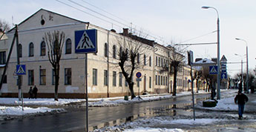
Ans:
POLYGON ((183 66, 185 61, 185 50, 182 50, 180 47, 171 47, 171 45, 167 46, 170 48, 171 53, 169 57, 169 65, 171 68, 171 74, 174 75, 174 85, 173 85, 173 96, 176 96, 177 93, 177 73, 179 68, 183 66))

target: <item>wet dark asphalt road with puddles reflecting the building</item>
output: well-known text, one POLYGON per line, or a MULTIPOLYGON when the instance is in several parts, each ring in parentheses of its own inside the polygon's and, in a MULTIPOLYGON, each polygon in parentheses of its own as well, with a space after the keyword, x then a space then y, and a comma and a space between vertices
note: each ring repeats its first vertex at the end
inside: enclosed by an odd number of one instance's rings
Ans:
MULTIPOLYGON (((198 100, 206 99, 209 94, 196 95, 198 100)), ((142 102, 115 107, 89 108, 89 130, 105 125, 119 124, 140 118, 140 116, 157 116, 162 113, 171 116, 192 114, 191 110, 171 110, 171 108, 186 108, 191 105, 191 96, 180 96, 155 102, 142 102), (163 112, 162 110, 168 110, 163 112)), ((57 113, 47 116, 33 116, 24 119, 13 119, 0 122, 0 131, 84 131, 85 108, 68 108, 67 113, 57 113)))

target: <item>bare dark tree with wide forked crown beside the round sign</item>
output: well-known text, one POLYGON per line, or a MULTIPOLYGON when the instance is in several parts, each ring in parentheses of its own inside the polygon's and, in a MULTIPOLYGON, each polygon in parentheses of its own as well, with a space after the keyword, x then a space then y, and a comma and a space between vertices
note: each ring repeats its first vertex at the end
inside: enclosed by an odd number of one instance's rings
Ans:
POLYGON ((147 52, 147 49, 153 45, 147 45, 152 43, 148 39, 144 39, 138 36, 134 36, 131 33, 123 33, 124 37, 117 37, 117 44, 119 45, 119 50, 116 52, 119 55, 118 65, 122 70, 122 75, 125 77, 126 83, 128 83, 128 88, 131 92, 131 99, 134 99, 134 70, 138 70, 143 67, 142 61, 140 61, 140 56, 147 52), (126 36, 126 37, 125 37, 126 36))

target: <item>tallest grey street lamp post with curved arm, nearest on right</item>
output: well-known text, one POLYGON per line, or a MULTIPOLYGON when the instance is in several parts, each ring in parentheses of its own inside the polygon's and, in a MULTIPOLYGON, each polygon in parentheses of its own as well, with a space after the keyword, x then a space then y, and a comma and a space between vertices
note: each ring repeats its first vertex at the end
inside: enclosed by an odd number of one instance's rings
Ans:
POLYGON ((219 12, 214 7, 203 6, 203 9, 214 9, 217 13, 217 99, 220 99, 220 19, 219 12))

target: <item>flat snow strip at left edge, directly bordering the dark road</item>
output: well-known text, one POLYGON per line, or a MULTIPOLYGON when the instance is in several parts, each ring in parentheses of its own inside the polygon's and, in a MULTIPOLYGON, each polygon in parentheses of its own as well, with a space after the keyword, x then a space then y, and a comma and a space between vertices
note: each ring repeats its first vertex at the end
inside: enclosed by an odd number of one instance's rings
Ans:
POLYGON ((5 107, 0 106, 0 115, 13 115, 13 116, 22 116, 25 114, 31 114, 31 113, 46 113, 51 111, 64 111, 64 109, 58 108, 58 109, 51 109, 51 108, 28 108, 24 107, 24 110, 22 110, 22 106, 17 107, 5 107))

